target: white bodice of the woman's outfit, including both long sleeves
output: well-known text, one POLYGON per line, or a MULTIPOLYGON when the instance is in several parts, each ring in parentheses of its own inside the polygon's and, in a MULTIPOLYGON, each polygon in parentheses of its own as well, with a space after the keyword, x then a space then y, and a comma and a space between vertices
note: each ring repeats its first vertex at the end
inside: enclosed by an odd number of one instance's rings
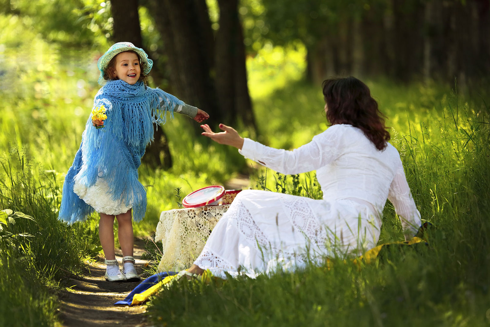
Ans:
POLYGON ((273 149, 245 138, 240 153, 282 174, 316 170, 325 200, 368 202, 381 216, 389 199, 401 217, 405 234, 420 226, 420 213, 398 151, 391 144, 384 151, 377 150, 357 127, 331 126, 293 151, 273 149))

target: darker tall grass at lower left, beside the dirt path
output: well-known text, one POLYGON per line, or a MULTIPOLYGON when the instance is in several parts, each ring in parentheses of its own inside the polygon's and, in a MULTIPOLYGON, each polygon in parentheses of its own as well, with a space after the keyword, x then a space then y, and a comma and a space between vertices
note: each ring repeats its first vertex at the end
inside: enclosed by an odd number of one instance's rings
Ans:
POLYGON ((0 160, 0 326, 53 326, 59 280, 99 251, 94 224, 57 220, 58 186, 34 169, 17 152, 0 160))

